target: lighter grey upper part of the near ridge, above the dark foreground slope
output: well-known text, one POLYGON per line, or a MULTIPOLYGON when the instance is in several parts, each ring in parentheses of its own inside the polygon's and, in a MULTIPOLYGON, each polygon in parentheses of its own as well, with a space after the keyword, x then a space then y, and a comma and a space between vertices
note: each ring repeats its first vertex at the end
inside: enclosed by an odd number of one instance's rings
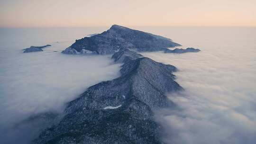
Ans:
POLYGON ((157 63, 146 57, 131 60, 122 65, 119 78, 91 86, 80 98, 70 102, 68 109, 118 106, 122 104, 123 96, 130 95, 149 106, 165 107, 167 99, 164 93, 181 89, 174 81, 172 72, 175 71, 172 65, 157 63))

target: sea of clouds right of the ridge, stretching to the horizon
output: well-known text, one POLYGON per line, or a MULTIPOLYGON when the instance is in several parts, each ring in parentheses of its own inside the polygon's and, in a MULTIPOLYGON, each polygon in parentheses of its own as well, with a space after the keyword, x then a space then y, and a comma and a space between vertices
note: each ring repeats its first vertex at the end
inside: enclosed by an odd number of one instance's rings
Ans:
POLYGON ((184 88, 167 94, 178 109, 156 112, 167 144, 256 144, 256 28, 159 27, 147 31, 173 38, 200 53, 143 53, 172 64, 184 88))

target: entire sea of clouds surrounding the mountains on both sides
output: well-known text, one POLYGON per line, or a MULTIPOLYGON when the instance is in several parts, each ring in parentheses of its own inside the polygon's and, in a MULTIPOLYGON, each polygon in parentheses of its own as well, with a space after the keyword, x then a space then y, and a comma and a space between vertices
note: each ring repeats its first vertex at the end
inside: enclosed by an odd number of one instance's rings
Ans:
MULTIPOLYGON (((167 144, 255 144, 255 27, 134 27, 172 38, 200 53, 143 53, 178 68, 184 88, 166 94, 178 109, 155 112, 167 144)), ((110 55, 65 55, 75 39, 106 27, 0 29, 0 143, 27 144, 38 135, 43 112, 61 113, 89 86, 119 76, 110 55), (23 54, 31 45, 52 45, 23 54), (57 51, 57 52, 54 52, 57 51), (23 123, 25 122, 25 123, 23 123)))

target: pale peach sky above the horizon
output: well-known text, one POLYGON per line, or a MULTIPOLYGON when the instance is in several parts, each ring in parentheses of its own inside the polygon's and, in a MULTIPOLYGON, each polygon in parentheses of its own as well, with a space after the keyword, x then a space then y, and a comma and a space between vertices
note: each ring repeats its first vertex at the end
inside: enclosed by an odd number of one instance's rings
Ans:
POLYGON ((256 26, 256 0, 0 0, 0 27, 256 26))

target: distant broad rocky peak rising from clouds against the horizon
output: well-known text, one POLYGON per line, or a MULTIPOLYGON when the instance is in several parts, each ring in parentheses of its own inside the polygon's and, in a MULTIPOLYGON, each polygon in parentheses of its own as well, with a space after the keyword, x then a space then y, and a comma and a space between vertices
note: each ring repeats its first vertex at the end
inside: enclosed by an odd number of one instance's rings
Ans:
POLYGON ((174 46, 180 45, 163 36, 113 25, 101 34, 76 40, 62 53, 84 54, 84 52, 90 51, 90 53, 97 54, 114 54, 120 48, 130 48, 137 51, 161 51, 174 46))

